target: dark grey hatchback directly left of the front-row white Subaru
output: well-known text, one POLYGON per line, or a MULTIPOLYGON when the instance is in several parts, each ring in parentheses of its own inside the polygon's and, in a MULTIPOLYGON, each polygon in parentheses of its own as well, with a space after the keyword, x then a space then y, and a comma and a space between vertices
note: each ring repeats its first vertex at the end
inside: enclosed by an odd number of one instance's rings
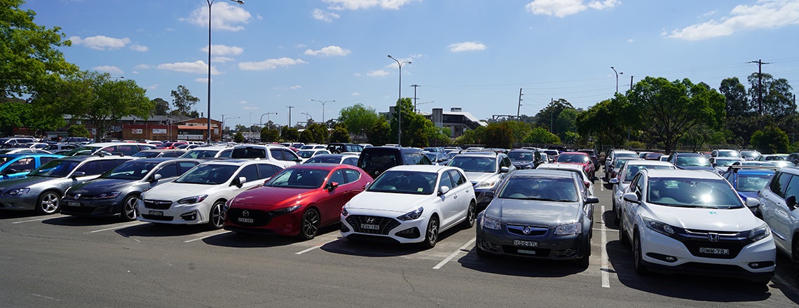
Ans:
POLYGON ((62 214, 76 216, 119 216, 136 219, 141 192, 169 183, 200 164, 199 160, 143 158, 130 160, 70 188, 62 198, 62 214))

